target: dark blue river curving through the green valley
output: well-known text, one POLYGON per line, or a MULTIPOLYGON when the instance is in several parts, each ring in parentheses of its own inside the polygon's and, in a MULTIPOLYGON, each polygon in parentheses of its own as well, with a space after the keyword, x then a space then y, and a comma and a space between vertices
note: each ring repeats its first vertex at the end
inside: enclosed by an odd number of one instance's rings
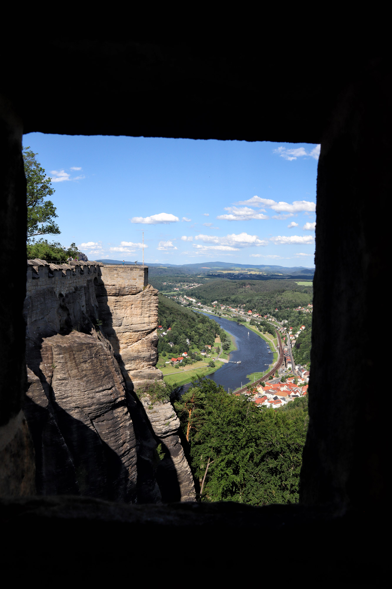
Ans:
MULTIPOLYGON (((268 353, 267 342, 265 342, 263 337, 258 336, 248 329, 247 325, 237 323, 236 321, 229 321, 211 313, 202 313, 202 315, 214 319, 222 329, 234 336, 235 339, 237 350, 230 352, 229 360, 233 362, 241 360, 241 364, 231 364, 229 362, 228 364, 224 364, 216 372, 208 375, 208 378, 214 380, 218 385, 224 386, 226 391, 228 388, 230 390, 237 389, 241 386, 241 383, 244 386, 248 382, 247 374, 263 372, 263 370, 268 369, 270 363, 273 363, 274 356, 272 353, 268 353)), ((185 385, 185 390, 189 386, 190 384, 185 385)))

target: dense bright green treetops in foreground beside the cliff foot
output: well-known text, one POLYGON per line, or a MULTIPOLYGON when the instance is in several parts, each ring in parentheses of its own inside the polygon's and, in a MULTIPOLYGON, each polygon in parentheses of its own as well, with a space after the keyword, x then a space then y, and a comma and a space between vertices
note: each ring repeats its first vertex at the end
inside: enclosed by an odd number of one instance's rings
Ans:
POLYGON ((307 398, 260 408, 201 377, 174 407, 202 501, 298 502, 307 398))

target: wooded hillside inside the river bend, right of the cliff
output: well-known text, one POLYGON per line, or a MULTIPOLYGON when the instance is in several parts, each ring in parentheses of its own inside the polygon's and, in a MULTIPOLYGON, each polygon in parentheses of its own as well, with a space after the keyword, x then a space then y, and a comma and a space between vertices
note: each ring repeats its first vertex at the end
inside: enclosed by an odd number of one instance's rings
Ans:
POLYGON ((190 345, 187 339, 201 349, 201 346, 212 346, 215 335, 221 332, 220 326, 213 319, 205 315, 195 313, 186 307, 168 299, 164 294, 158 294, 158 320, 167 335, 160 337, 158 352, 171 353, 172 355, 189 352, 190 345), (173 342, 172 348, 169 342, 173 342))

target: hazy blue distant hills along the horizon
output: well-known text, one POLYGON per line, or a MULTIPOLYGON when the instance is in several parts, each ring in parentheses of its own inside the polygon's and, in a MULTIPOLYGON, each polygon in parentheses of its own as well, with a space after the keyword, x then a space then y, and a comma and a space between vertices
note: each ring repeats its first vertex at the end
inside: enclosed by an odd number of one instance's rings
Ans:
MULTIPOLYGON (((122 260, 97 260, 102 264, 122 264, 122 260)), ((125 262, 134 264, 135 262, 125 262)), ((141 262, 138 262, 138 265, 141 262)), ((240 277, 260 278, 267 276, 288 277, 313 277, 314 268, 305 266, 271 266, 267 264, 237 264, 230 262, 199 262, 196 264, 157 264, 146 263, 151 268, 152 275, 181 275, 181 274, 209 274, 211 277, 227 277, 230 279, 240 279, 240 277), (255 276, 258 274, 259 276, 255 276)))

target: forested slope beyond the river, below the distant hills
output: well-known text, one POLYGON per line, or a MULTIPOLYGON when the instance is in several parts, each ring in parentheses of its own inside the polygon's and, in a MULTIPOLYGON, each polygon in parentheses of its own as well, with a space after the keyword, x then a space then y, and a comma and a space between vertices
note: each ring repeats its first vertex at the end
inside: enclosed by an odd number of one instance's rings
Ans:
POLYGON ((211 280, 191 290, 192 296, 207 305, 214 300, 224 305, 246 305, 265 315, 271 309, 293 309, 312 302, 313 286, 300 286, 295 280, 211 280))

